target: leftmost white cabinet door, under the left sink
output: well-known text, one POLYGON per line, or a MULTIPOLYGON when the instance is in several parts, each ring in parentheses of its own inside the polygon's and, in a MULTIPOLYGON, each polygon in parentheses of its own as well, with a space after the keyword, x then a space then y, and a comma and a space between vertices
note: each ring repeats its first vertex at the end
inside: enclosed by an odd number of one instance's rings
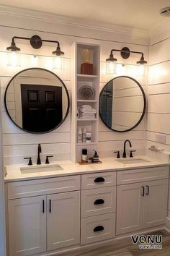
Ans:
POLYGON ((46 196, 9 200, 9 256, 46 250, 46 196))

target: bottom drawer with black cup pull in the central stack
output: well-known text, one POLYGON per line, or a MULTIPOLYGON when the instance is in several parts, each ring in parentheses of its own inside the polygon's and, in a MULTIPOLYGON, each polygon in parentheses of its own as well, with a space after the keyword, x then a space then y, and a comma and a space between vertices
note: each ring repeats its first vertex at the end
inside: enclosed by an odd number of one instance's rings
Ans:
POLYGON ((115 213, 81 218, 81 244, 115 237, 115 213))

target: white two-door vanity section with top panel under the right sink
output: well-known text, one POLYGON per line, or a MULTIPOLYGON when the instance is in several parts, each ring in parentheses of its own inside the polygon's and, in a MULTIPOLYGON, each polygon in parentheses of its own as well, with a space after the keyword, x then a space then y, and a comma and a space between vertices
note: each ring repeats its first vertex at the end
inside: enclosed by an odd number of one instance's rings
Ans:
POLYGON ((120 185, 117 186, 117 234, 138 231, 166 222, 168 176, 167 167, 159 170, 146 168, 127 171, 125 175, 118 172, 117 180, 120 185), (125 176, 129 184, 124 184, 125 176), (164 179, 158 179, 159 176, 164 176, 164 179), (132 179, 134 183, 131 182, 132 179), (143 181, 143 179, 146 181, 135 183, 135 180, 143 181))

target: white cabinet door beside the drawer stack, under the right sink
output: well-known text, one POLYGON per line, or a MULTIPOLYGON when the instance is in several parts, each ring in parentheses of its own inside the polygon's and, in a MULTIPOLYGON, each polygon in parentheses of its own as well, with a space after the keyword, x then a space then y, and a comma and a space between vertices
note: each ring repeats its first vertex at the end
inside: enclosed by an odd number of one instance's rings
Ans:
POLYGON ((117 187, 117 229, 116 234, 142 229, 143 183, 117 187))

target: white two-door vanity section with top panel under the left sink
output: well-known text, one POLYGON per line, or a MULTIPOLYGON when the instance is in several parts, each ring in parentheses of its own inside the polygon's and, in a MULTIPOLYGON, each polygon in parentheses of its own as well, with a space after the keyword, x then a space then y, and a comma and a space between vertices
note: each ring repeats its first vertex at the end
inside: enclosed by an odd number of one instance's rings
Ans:
MULTIPOLYGON (((30 191, 27 197, 8 200, 9 256, 35 255, 80 243, 80 191, 77 189, 80 189, 81 179, 75 176, 76 191, 68 192, 69 179, 69 176, 63 177, 61 181, 63 188, 66 181, 66 192, 30 197, 30 191)), ((29 182, 31 185, 32 181, 29 182)), ((43 190, 42 180, 36 182, 40 182, 41 193, 45 194, 47 187, 43 190)), ((46 184, 50 181, 46 179, 43 182, 46 184)), ((9 183, 9 191, 14 190, 14 195, 17 195, 17 187, 20 189, 20 185, 25 196, 22 182, 9 183)), ((58 186, 61 186, 60 182, 58 186)), ((25 189, 27 187, 28 184, 25 189)), ((40 193, 40 190, 37 192, 40 193)), ((9 197, 14 195, 9 193, 9 197)))

